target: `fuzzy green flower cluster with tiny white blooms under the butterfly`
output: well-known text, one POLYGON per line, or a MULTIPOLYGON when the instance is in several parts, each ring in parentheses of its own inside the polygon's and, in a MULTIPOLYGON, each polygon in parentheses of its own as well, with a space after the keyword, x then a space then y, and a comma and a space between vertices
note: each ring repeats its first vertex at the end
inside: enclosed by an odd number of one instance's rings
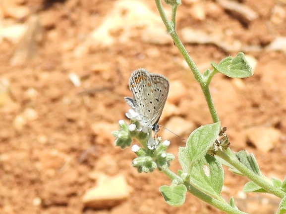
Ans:
POLYGON ((140 125, 140 116, 133 110, 126 113, 126 117, 131 120, 128 125, 123 120, 118 122, 120 130, 113 131, 115 137, 115 146, 124 149, 130 146, 132 138, 135 138, 140 144, 133 145, 131 150, 137 154, 132 162, 132 166, 136 167, 139 172, 151 172, 156 168, 164 170, 170 166, 170 161, 175 157, 166 150, 170 145, 170 141, 162 142, 161 137, 152 135, 152 128, 140 125))

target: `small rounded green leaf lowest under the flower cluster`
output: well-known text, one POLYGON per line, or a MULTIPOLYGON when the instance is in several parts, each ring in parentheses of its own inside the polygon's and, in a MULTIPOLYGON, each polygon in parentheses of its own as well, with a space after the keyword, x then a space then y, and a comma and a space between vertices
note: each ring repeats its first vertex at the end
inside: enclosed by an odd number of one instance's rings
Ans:
POLYGON ((187 187, 183 184, 171 186, 161 186, 159 188, 167 204, 171 206, 181 206, 186 199, 187 187))

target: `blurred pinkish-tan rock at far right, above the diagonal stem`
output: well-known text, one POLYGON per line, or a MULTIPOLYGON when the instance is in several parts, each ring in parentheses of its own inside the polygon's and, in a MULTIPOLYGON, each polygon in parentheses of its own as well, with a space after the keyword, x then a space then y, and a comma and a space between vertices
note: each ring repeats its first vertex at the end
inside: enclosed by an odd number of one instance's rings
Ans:
POLYGON ((281 131, 272 127, 252 127, 245 131, 248 140, 262 152, 273 149, 281 138, 281 131))

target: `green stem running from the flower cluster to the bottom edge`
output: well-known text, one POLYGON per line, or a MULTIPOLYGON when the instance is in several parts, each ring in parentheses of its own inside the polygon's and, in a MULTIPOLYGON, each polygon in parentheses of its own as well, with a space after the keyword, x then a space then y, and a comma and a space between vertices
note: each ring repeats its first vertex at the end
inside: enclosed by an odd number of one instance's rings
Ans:
MULTIPOLYGON (((178 183, 183 183, 182 179, 178 175, 173 173, 171 170, 166 169, 166 170, 163 170, 162 172, 166 174, 172 181, 177 180, 179 181, 178 183)), ((187 184, 186 187, 189 193, 193 194, 194 196, 201 199, 202 201, 214 206, 215 208, 221 211, 224 211, 227 214, 245 214, 242 211, 234 209, 233 207, 231 207, 229 204, 225 203, 224 201, 220 201, 218 199, 212 198, 211 196, 203 193, 202 191, 198 190, 191 184, 187 184)))

